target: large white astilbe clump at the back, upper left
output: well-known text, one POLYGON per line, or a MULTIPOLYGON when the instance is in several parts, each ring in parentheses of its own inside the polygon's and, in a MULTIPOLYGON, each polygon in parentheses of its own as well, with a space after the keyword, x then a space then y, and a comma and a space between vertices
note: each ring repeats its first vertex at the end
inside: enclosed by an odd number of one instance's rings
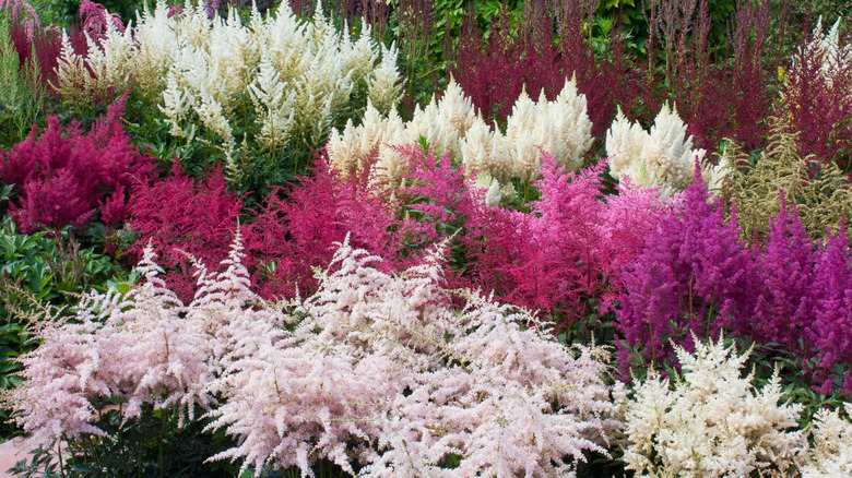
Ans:
POLYGON ((321 143, 351 103, 370 98, 387 111, 400 100, 395 48, 377 45, 368 27, 353 40, 320 2, 312 22, 298 20, 287 2, 274 15, 252 11, 248 25, 239 19, 235 11, 211 19, 203 2, 171 15, 159 1, 135 29, 107 24, 103 38, 88 40, 85 58, 66 38, 57 88, 79 101, 93 89, 138 85, 159 100, 171 134, 212 142, 230 159, 238 111, 257 115, 252 138, 275 150, 292 136, 321 143), (360 89, 366 97, 356 97, 360 89))

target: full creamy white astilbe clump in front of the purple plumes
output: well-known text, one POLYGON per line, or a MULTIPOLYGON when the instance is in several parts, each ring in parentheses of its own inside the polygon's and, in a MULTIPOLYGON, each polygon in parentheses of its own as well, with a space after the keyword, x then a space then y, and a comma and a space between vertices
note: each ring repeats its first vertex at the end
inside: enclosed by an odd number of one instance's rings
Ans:
POLYGON ((778 371, 759 392, 742 377, 749 351, 737 356, 722 339, 694 354, 675 346, 683 379, 670 386, 651 372, 625 407, 624 461, 641 477, 742 477, 776 467, 792 470, 805 440, 798 404, 781 404, 778 371))

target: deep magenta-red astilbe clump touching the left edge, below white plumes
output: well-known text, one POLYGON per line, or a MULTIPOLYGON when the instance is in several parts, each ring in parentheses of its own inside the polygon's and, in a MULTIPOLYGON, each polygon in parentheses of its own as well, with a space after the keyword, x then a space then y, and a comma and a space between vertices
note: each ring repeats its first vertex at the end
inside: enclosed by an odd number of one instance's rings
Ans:
POLYGON ((85 133, 79 123, 61 127, 48 118, 40 136, 29 136, 0 154, 0 180, 15 184, 9 212, 24 232, 64 225, 83 227, 95 218, 108 226, 127 217, 126 191, 147 177, 152 159, 130 145, 121 128, 127 96, 85 133))

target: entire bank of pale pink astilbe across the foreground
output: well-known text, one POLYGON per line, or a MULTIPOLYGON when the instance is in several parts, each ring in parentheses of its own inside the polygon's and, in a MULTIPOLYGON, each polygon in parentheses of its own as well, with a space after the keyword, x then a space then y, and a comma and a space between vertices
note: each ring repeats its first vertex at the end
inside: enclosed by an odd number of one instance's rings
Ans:
POLYGON ((105 434, 96 404, 173 407, 237 445, 211 459, 244 469, 328 458, 359 476, 570 475, 606 454, 618 422, 605 354, 569 349, 526 312, 442 286, 440 251, 398 275, 344 242, 320 288, 288 304, 249 289, 239 236, 220 271, 198 265, 189 306, 164 287, 149 250, 145 283, 92 294, 73 321, 48 324, 9 397, 42 440, 105 434), (218 399, 221 403, 218 403, 218 399), (453 469, 441 467, 451 455, 453 469))

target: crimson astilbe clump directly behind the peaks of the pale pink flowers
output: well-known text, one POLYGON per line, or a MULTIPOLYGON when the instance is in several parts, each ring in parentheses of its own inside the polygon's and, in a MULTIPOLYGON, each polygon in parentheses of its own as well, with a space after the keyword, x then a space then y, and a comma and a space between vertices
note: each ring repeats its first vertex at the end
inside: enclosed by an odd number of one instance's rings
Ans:
POLYGON ((403 252, 403 225, 389 193, 372 184, 369 166, 343 177, 328 157, 317 157, 310 176, 300 177, 286 201, 271 194, 245 229, 248 259, 256 267, 252 284, 264 297, 303 296, 317 288, 313 268, 331 261, 336 243, 350 243, 395 267, 403 252))

